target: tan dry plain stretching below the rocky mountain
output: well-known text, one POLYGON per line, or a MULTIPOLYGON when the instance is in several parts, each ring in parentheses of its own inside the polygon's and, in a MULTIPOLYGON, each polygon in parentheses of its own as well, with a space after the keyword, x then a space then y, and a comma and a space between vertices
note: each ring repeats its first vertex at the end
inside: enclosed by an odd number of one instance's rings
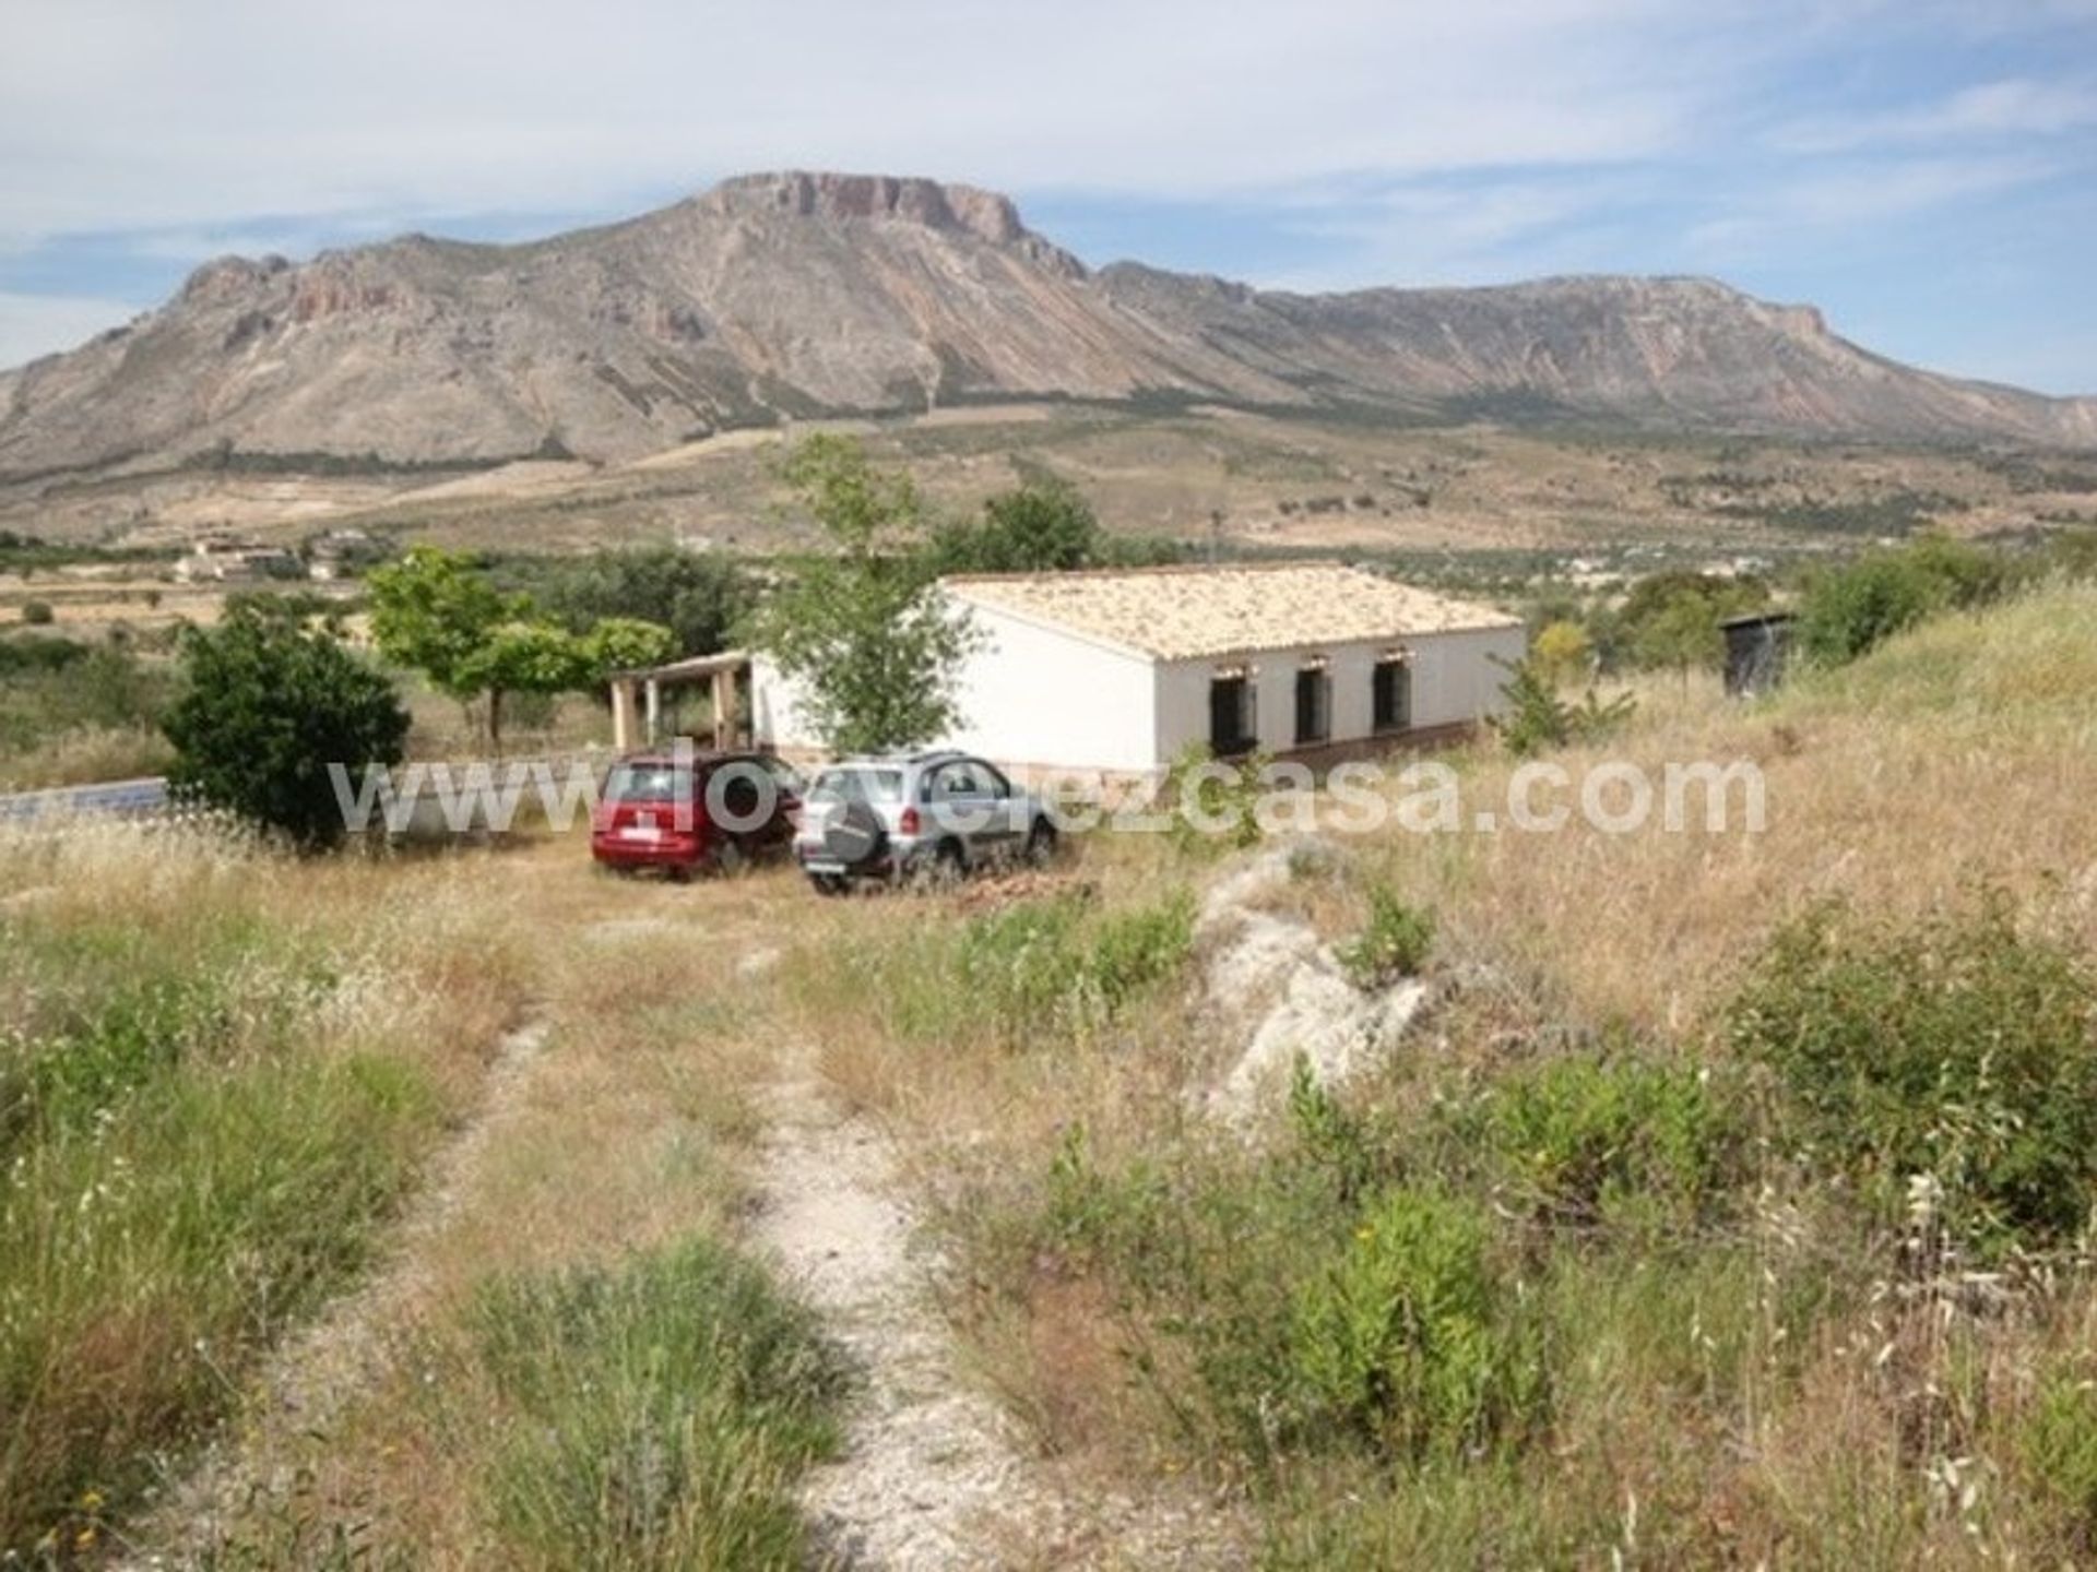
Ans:
MULTIPOLYGON (((1273 549, 1671 543, 1793 551, 1936 524, 1986 534, 2097 522, 2097 461, 1776 438, 1405 425, 1210 407, 965 407, 793 430, 862 434, 942 507, 1053 472, 1109 528, 1273 549), (1218 522, 1220 516, 1220 522, 1218 522)), ((287 476, 117 476, 0 499, 0 528, 170 545, 208 528, 296 541, 359 524, 449 545, 572 551, 686 539, 776 549, 782 432, 730 432, 621 465, 287 476)))

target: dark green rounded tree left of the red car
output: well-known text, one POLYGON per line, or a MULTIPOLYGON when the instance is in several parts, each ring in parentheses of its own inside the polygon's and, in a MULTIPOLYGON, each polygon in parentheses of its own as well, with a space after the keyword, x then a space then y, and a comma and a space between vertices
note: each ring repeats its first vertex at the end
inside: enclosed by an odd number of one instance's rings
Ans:
POLYGON ((384 673, 281 608, 237 604, 182 643, 182 694, 161 729, 172 782, 281 830, 304 851, 344 836, 327 767, 401 763, 409 717, 384 673))

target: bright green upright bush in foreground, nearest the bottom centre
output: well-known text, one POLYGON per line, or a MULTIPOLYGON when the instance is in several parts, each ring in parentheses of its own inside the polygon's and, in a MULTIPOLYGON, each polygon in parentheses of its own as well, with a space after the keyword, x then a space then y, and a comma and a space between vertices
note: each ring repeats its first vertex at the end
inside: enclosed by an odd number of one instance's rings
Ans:
POLYGON ((1489 1216, 1399 1188, 1306 1283, 1292 1329, 1317 1413, 1392 1457, 1466 1457, 1539 1417, 1537 1339, 1491 1266, 1489 1216))

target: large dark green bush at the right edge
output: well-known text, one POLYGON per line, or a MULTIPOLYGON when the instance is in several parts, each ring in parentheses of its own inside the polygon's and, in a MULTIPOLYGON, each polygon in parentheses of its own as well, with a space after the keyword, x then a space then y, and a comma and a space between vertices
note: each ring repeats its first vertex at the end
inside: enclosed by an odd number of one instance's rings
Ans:
POLYGON ((2007 899, 1910 926, 1824 905, 1778 931, 1728 1012, 1810 1153, 1885 1218, 1929 1176, 1936 1218, 1996 1253, 2072 1239, 2097 1180, 2097 977, 2007 899))

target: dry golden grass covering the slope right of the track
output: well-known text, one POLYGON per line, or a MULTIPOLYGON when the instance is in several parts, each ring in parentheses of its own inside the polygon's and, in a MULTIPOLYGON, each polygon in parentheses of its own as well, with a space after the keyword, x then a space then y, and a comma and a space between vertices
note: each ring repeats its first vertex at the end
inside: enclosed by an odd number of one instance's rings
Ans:
MULTIPOLYGON (((1902 920, 1986 887, 2097 954, 2089 589, 1927 625, 1766 704, 1652 679, 1625 734, 1558 763, 1579 780, 1610 759, 1655 773, 1755 761, 1768 828, 1388 832, 1267 897, 1338 939, 1367 889, 1392 887, 1436 914, 1439 973, 1462 983, 1426 1052, 1357 1088, 1355 1123, 1319 1138, 1342 1163, 1476 1182, 1474 1140, 1434 1134, 1449 1100, 1598 1042, 1724 1075, 1722 1006, 1772 929, 1824 895, 1902 920), (1365 1142, 1355 1157, 1350 1140, 1365 1142)), ((1466 811, 1504 807, 1514 761, 1478 748, 1451 763, 1466 811)), ((1103 916, 1206 874, 1160 838, 1101 838, 1082 857, 1103 916)), ((942 985, 965 987, 950 935, 969 920, 937 901, 818 908, 784 1006, 824 1044, 828 1075, 904 1138, 956 1253, 950 1312, 1044 1453, 1118 1484, 1193 1469, 1248 1488, 1279 1566, 2055 1566, 2097 1543, 2097 1484, 2078 1497, 2080 1476, 2063 1482, 2032 1450, 2042 1396, 2066 1390, 2070 1455, 2097 1459, 2097 1402, 2084 1415, 2072 1385, 2097 1304, 2080 1266, 2055 1262, 2001 1302, 1948 1262, 1904 1266, 1841 1184, 1761 1144, 1753 1100, 1726 1220, 1682 1237, 1514 1230, 1554 1371, 1545 1442, 1470 1463, 1365 1463, 1327 1442, 1233 1461, 1244 1442, 1204 1404, 1233 1398, 1218 1381, 1241 1396, 1269 1379, 1260 1279, 1283 1283, 1285 1320, 1288 1276, 1315 1279, 1325 1232, 1355 1226, 1332 1199, 1334 1155, 1302 1132, 1233 1149, 1202 1128, 1187 1090, 1218 1044, 1183 989, 1107 1033, 929 1008, 942 985), (1107 1243, 1072 1232, 1053 1178, 1074 1132, 1103 1186, 1103 1220, 1084 1226, 1107 1243)))

